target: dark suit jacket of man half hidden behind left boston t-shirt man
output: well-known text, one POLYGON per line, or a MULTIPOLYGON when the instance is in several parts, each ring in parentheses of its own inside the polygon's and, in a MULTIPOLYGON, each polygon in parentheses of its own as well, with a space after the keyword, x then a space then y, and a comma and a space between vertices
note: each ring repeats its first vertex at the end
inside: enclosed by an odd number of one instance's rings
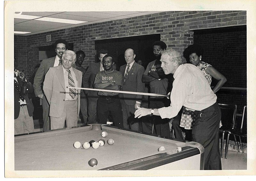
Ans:
MULTIPOLYGON (((89 66, 83 76, 82 85, 84 88, 93 88, 94 79, 98 72, 100 72, 100 62, 89 66)), ((95 98, 95 101, 98 99, 98 91, 85 90, 85 94, 88 94, 88 98, 95 98)))

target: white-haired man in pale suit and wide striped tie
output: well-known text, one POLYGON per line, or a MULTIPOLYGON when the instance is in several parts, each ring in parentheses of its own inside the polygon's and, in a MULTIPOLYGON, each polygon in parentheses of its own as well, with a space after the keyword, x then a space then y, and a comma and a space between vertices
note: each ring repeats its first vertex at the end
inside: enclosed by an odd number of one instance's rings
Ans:
POLYGON ((72 67, 76 54, 66 50, 61 56, 62 64, 49 68, 44 79, 44 94, 50 103, 51 130, 77 126, 80 110, 80 89, 82 72, 72 67))

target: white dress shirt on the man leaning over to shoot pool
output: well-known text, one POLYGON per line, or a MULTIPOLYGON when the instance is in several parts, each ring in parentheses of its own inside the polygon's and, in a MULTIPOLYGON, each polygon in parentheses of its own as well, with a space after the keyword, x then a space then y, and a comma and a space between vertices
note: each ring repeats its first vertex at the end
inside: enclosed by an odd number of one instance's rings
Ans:
POLYGON ((173 78, 171 105, 158 109, 162 119, 175 117, 182 106, 201 111, 216 102, 216 94, 213 93, 202 71, 195 65, 180 65, 173 78))

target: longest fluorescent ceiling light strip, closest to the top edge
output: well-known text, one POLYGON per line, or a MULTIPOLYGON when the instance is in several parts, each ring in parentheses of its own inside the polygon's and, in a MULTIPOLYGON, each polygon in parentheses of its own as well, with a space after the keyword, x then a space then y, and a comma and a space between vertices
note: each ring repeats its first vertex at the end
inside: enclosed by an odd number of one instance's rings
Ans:
POLYGON ((16 14, 14 13, 14 18, 17 19, 34 19, 37 21, 49 21, 55 23, 67 23, 67 24, 80 24, 86 23, 88 21, 78 21, 72 19, 60 19, 60 18, 49 18, 49 17, 42 17, 42 16, 31 16, 31 15, 24 15, 24 14, 16 14))

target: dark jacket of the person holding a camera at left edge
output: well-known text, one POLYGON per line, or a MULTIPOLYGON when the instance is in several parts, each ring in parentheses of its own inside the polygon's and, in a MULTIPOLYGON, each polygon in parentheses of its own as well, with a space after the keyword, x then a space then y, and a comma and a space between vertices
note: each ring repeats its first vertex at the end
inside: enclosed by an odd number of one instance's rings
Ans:
MULTIPOLYGON (((34 89, 30 82, 23 82, 19 77, 17 77, 17 81, 18 81, 20 90, 21 90, 22 85, 26 84, 28 93, 33 92, 34 89)), ((28 95, 23 95, 23 97, 27 103, 29 116, 33 116, 34 106, 33 106, 32 102, 29 100, 28 95)), ((19 92, 14 87, 14 119, 17 119, 19 117, 19 114, 20 114, 20 95, 19 95, 19 92)))

